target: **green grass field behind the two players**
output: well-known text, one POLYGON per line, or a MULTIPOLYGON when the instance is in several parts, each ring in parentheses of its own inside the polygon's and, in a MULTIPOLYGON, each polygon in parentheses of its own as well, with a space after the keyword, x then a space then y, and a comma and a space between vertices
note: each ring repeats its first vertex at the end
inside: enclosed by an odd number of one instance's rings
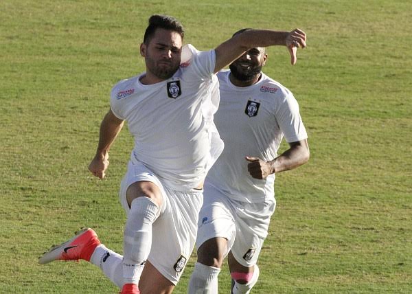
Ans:
POLYGON ((277 176, 253 293, 412 293, 411 11, 407 0, 0 1, 0 293, 117 293, 87 262, 37 258, 83 226, 122 252, 128 131, 106 179, 87 165, 111 87, 144 70, 155 13, 180 19, 198 49, 242 27, 308 34, 295 67, 268 49, 264 72, 295 93, 311 159, 277 176))

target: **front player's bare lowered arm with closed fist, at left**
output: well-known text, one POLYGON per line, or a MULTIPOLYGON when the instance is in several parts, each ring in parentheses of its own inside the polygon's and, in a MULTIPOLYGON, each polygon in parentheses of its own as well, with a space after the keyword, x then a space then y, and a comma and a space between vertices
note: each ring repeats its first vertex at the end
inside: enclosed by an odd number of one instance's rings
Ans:
POLYGON ((124 120, 119 120, 111 109, 106 113, 102 124, 100 124, 98 150, 96 150, 96 155, 89 164, 90 172, 100 179, 103 179, 106 175, 106 169, 108 168, 108 150, 122 130, 123 124, 124 120))

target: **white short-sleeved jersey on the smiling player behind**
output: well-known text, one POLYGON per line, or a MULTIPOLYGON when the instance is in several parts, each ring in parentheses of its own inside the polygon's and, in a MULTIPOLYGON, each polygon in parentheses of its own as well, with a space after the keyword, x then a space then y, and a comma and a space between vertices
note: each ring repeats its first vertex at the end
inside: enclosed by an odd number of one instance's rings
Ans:
MULTIPOLYGON (((306 139, 306 129, 293 94, 265 74, 250 87, 236 87, 230 71, 218 73, 220 106, 214 122, 225 150, 207 174, 206 181, 238 201, 255 203, 274 197, 275 174, 253 179, 246 156, 271 161, 282 138, 306 139)), ((207 191, 205 191, 207 196, 207 191)))

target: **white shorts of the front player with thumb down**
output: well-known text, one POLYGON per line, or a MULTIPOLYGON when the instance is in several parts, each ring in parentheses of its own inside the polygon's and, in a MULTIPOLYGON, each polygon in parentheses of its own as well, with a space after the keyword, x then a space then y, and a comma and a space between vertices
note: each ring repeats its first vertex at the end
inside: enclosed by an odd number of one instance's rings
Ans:
POLYGON ((126 191, 132 183, 137 181, 155 183, 163 195, 159 216, 152 227, 152 249, 148 261, 165 278, 176 285, 194 248, 198 212, 203 202, 203 190, 168 189, 146 166, 129 162, 119 192, 120 203, 126 214, 130 210, 126 200, 126 191))

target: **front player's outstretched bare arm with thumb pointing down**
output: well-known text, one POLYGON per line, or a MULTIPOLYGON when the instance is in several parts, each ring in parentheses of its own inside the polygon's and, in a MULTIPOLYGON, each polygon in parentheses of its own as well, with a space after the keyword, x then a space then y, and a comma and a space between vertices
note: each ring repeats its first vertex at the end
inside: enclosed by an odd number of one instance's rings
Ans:
POLYGON ((220 69, 230 65, 244 52, 253 47, 268 47, 284 45, 288 47, 291 63, 296 63, 297 47, 306 47, 306 34, 302 30, 295 29, 292 32, 277 32, 273 30, 248 30, 233 36, 229 40, 216 47, 215 74, 220 69))

